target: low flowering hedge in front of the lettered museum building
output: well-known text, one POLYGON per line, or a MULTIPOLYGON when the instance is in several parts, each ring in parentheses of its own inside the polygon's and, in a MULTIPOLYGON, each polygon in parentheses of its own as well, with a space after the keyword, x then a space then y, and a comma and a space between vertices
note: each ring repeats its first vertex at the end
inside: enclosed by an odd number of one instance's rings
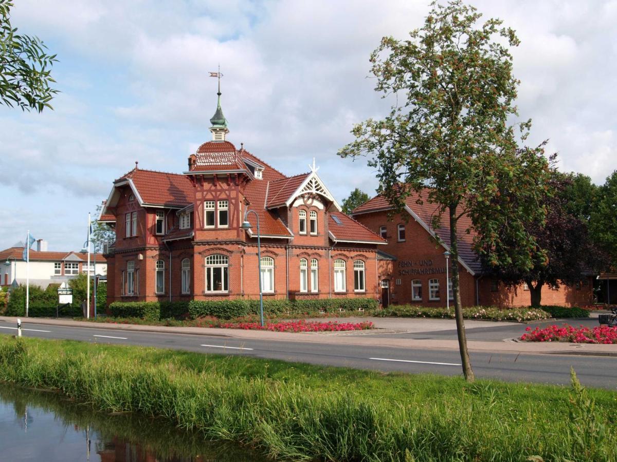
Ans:
MULTIPOLYGON (((375 316, 397 316, 403 318, 454 318, 452 307, 426 307, 415 305, 390 305, 375 312, 375 316)), ((491 321, 537 321, 549 318, 544 310, 535 308, 496 308, 487 306, 472 306, 463 308, 466 319, 487 319, 491 321)))

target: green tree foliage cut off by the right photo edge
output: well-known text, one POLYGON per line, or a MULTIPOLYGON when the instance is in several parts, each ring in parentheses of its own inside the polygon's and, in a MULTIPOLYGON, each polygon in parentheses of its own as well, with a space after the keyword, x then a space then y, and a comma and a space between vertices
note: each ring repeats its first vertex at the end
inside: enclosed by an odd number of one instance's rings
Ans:
POLYGON ((617 170, 599 190, 589 222, 592 238, 603 248, 617 268, 617 170))

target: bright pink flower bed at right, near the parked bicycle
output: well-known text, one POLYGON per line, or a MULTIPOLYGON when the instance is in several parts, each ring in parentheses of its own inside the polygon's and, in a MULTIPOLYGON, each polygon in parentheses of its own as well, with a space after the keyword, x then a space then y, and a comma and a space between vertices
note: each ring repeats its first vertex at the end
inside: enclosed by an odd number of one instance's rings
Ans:
POLYGON ((576 328, 569 324, 561 327, 552 325, 540 329, 531 327, 525 329, 527 334, 521 335, 521 340, 528 342, 575 342, 575 343, 605 343, 617 344, 617 327, 597 326, 576 328))

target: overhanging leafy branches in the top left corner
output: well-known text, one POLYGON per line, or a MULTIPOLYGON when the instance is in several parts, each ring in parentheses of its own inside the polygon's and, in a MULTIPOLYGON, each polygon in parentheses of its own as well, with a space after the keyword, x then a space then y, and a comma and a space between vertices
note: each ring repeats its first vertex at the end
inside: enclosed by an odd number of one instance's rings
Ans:
POLYGON ((10 23, 9 0, 0 0, 0 104, 39 112, 57 93, 49 84, 56 55, 48 55, 43 41, 17 33, 10 23))

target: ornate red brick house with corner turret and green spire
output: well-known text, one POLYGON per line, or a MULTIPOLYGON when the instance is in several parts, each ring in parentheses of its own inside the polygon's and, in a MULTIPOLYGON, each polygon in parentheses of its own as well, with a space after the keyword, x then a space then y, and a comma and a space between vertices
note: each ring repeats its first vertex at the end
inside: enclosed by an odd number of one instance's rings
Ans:
POLYGON ((288 177, 226 140, 220 107, 213 140, 182 174, 138 168, 114 181, 101 222, 115 228, 107 301, 258 298, 259 216, 265 298, 379 295, 386 242, 341 208, 317 175, 288 177))

